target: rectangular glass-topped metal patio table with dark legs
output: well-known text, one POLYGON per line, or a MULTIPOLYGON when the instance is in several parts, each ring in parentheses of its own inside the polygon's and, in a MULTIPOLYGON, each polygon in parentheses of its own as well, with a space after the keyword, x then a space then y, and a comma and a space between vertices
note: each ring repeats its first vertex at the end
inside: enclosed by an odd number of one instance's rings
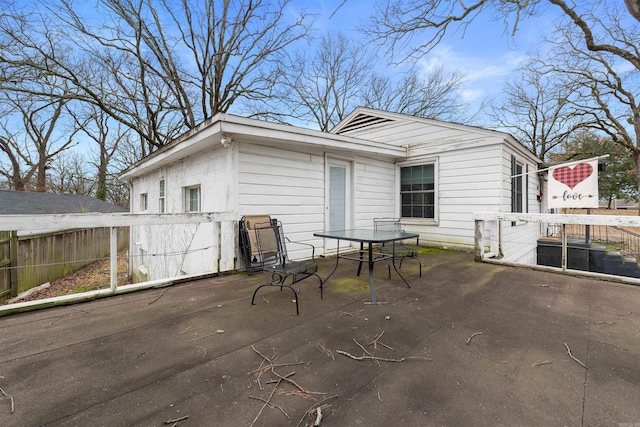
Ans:
MULTIPOLYGON (((360 275, 360 270, 362 268, 362 263, 367 261, 369 264, 369 287, 371 288, 371 303, 376 304, 376 289, 373 283, 373 264, 379 261, 393 261, 393 253, 392 251, 389 253, 381 253, 374 252, 373 245, 380 243, 391 243, 392 248, 395 249, 395 242, 399 242, 406 239, 416 239, 416 245, 418 244, 419 235, 417 233, 407 233, 404 231, 380 231, 380 230, 370 230, 370 229, 351 229, 351 230, 337 230, 337 231, 325 231, 322 233, 313 233, 316 237, 323 237, 325 239, 335 239, 337 240, 337 255, 336 255, 336 265, 333 268, 333 271, 324 279, 326 283, 327 280, 336 272, 338 269, 338 263, 340 259, 350 259, 352 261, 358 261, 358 276, 360 275), (354 252, 349 252, 347 254, 340 254, 340 240, 346 240, 349 242, 359 242, 360 250, 354 252), (365 243, 367 244, 367 248, 364 248, 365 243), (354 255, 355 254, 355 255, 354 255), (366 258, 365 258, 366 256, 366 258)), ((398 276, 402 279, 407 287, 409 283, 405 280, 405 278, 400 274, 398 269, 395 266, 394 262, 391 262, 390 265, 393 265, 393 269, 398 273, 398 276)))

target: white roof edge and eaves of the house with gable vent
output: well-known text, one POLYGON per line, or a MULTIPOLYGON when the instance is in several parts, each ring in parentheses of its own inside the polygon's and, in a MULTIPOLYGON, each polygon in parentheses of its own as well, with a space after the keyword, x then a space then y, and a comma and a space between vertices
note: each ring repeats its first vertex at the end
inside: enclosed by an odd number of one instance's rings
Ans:
MULTIPOLYGON (((254 143, 286 149, 315 147, 335 152, 353 153, 385 157, 392 160, 406 159, 413 154, 409 148, 411 141, 387 139, 374 136, 373 132, 384 127, 415 124, 417 128, 439 131, 441 134, 466 134, 477 139, 504 141, 530 155, 524 145, 508 133, 484 129, 476 126, 443 122, 434 119, 409 116, 401 113, 358 107, 331 132, 270 123, 227 113, 218 113, 199 126, 177 137, 169 144, 151 153, 123 171, 119 178, 131 180, 150 171, 167 166, 178 160, 197 156, 203 150, 222 150, 237 143, 254 143)), ((424 140, 424 135, 421 137, 424 140)), ((451 138, 443 139, 449 149, 456 149, 451 138)), ((477 142, 472 141, 477 145, 477 142)), ((428 144, 419 144, 428 149, 428 144)), ((433 147, 431 147, 433 149, 433 147)))

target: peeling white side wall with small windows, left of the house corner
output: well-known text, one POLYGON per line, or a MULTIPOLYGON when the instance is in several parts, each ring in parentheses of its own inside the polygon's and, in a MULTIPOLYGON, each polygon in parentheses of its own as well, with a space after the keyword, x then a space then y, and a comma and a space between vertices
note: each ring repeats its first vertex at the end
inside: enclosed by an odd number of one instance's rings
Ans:
MULTIPOLYGON (((165 180, 165 212, 185 212, 185 187, 200 186, 202 212, 231 211, 233 190, 229 162, 233 147, 209 150, 136 178, 132 212, 140 213, 140 194, 147 193, 149 213, 159 213, 160 180, 165 180)), ((131 268, 139 280, 217 272, 220 226, 171 225, 131 228, 131 268), (138 244, 139 243, 139 244, 138 244), (144 275, 143 273, 147 274, 144 275)))

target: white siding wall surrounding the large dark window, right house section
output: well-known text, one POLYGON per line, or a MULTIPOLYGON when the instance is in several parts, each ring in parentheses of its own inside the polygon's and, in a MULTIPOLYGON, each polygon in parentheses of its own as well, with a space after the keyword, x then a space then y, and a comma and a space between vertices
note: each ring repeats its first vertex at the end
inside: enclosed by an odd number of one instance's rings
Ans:
MULTIPOLYGON (((505 134, 479 128, 401 119, 345 135, 408 146, 410 159, 437 159, 437 222, 403 219, 404 228, 420 233, 421 243, 429 246, 473 250, 473 212, 511 211, 511 154, 528 164, 529 171, 537 169, 522 147, 505 142, 505 134)), ((412 160, 409 164, 417 163, 412 160)), ((529 176, 528 184, 529 212, 539 212, 535 173, 529 176)), ((497 229, 487 225, 486 233, 497 241, 497 229)), ((537 224, 502 224, 505 259, 535 263, 539 235, 537 224)))

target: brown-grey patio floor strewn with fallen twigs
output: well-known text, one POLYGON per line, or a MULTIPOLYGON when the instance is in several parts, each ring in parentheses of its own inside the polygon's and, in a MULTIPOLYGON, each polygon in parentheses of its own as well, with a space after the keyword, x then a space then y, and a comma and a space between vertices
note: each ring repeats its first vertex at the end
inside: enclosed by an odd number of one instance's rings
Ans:
POLYGON ((421 258, 375 306, 344 262, 300 316, 234 274, 0 317, 0 425, 640 425, 640 287, 421 258))

